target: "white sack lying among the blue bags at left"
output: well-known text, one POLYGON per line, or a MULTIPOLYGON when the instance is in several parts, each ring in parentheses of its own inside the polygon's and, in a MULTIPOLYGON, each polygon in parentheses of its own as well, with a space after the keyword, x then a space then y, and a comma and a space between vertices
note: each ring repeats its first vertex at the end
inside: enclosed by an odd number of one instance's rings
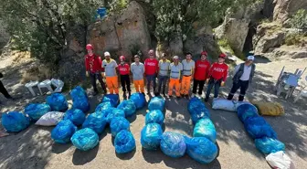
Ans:
POLYGON ((37 122, 36 125, 42 126, 55 126, 64 117, 64 112, 50 111, 43 115, 37 122))

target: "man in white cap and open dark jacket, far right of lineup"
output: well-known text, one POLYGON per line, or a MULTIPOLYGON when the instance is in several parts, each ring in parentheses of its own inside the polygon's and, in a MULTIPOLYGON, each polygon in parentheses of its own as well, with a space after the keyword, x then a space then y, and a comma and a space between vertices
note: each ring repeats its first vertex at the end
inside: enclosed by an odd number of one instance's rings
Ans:
POLYGON ((228 100, 232 100, 235 93, 240 89, 238 101, 243 101, 246 91, 254 77, 256 65, 253 63, 255 57, 249 56, 244 63, 237 65, 235 68, 235 76, 233 77, 233 85, 228 94, 228 100))

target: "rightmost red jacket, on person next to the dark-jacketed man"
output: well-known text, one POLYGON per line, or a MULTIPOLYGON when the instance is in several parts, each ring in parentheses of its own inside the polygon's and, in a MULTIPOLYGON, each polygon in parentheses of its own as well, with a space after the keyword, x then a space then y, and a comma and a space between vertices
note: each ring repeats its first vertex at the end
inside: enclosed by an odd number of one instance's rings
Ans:
POLYGON ((227 76, 228 65, 225 63, 219 64, 216 62, 210 68, 208 78, 212 77, 214 79, 222 79, 223 81, 226 81, 227 76))

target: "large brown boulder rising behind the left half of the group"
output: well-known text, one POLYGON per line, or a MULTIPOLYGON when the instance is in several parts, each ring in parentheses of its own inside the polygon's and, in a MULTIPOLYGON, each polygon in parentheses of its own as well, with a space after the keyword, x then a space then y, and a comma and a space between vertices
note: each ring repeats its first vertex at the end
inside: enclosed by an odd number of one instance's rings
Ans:
POLYGON ((108 16, 90 26, 88 42, 99 54, 110 51, 128 58, 137 50, 145 54, 151 46, 151 38, 144 15, 142 6, 132 1, 121 16, 108 16))

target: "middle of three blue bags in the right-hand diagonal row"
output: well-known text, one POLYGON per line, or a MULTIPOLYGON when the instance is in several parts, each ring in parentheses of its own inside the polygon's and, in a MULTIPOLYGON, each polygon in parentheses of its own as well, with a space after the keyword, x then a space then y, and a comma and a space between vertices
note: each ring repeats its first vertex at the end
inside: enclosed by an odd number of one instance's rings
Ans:
POLYGON ((250 117, 245 121, 245 129, 253 139, 262 137, 277 138, 276 132, 270 127, 270 124, 263 117, 250 117))

